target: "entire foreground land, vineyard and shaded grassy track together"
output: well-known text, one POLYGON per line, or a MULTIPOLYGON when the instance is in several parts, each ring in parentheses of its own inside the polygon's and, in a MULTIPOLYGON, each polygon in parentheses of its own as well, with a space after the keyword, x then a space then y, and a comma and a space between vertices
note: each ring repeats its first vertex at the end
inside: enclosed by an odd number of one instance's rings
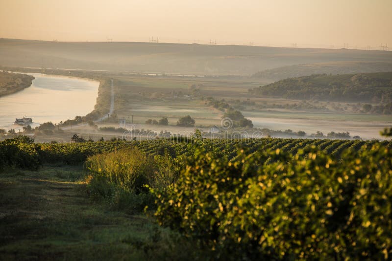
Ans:
POLYGON ((31 142, 0 142, 6 259, 392 254, 391 141, 31 142))

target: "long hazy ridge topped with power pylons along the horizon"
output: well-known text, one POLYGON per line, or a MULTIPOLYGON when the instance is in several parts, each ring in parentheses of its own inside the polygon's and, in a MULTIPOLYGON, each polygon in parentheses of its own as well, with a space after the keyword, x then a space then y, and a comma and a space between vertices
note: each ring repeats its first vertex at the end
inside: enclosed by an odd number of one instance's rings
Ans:
POLYGON ((376 63, 391 61, 388 51, 0 39, 3 66, 250 76, 283 66, 341 62, 369 63, 371 72, 376 63))

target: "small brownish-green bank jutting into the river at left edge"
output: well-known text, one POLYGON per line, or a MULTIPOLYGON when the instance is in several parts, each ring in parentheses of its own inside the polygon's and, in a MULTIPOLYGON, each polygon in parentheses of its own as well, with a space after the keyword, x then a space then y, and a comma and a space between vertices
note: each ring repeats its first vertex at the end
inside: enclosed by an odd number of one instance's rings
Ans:
POLYGON ((31 75, 0 71, 0 96, 23 90, 31 85, 32 80, 31 75))

